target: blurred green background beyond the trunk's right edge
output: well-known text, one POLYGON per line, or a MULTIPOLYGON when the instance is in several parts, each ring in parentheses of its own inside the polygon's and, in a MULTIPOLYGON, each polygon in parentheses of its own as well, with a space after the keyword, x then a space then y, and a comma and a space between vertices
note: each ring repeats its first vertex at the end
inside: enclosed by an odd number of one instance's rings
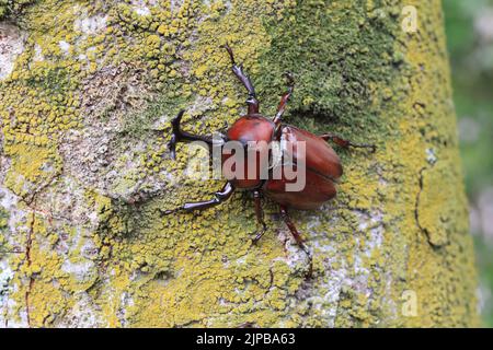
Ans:
POLYGON ((484 326, 493 327, 493 0, 443 0, 484 326))

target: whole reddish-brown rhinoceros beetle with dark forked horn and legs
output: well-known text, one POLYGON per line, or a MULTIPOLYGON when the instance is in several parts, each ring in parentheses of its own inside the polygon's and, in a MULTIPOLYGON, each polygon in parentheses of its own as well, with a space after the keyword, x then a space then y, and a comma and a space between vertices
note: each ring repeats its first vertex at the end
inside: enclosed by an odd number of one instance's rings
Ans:
MULTIPOLYGON (((261 201, 262 195, 265 195, 267 198, 279 205, 280 215, 289 228, 294 238, 310 257, 309 250, 303 245, 301 236, 290 220, 287 210, 288 208, 300 210, 317 209, 325 201, 335 197, 335 183, 337 178, 342 176, 343 168, 337 154, 326 141, 331 140, 343 148, 370 148, 374 152, 375 145, 356 144, 332 133, 316 136, 306 130, 283 124, 282 119, 286 109, 286 104, 293 94, 295 85, 290 73, 286 73, 288 80, 288 91, 280 98, 276 116, 272 120, 265 118, 259 113, 259 101, 256 100, 255 90, 250 78, 243 72, 241 65, 237 66, 231 48, 228 45, 225 45, 225 48, 231 58, 232 71, 244 88, 246 88, 249 97, 246 100, 248 114, 240 117, 228 129, 227 135, 222 137, 222 140, 225 142, 239 141, 245 147, 252 141, 266 141, 270 143, 280 140, 295 145, 295 151, 293 154, 295 166, 296 162, 300 162, 301 160, 306 165, 305 188, 300 191, 286 191, 286 184, 289 183, 287 178, 283 176, 280 178, 270 177, 265 179, 261 178, 259 176, 259 172, 256 172, 254 176, 245 175, 243 178, 232 178, 228 180, 221 190, 214 194, 213 199, 199 202, 187 202, 174 210, 164 211, 164 214, 171 214, 176 211, 192 212, 194 210, 207 209, 229 199, 236 189, 249 190, 253 192, 256 219, 262 225, 262 230, 253 238, 253 241, 256 242, 266 231, 261 201), (306 144, 306 152, 303 154, 296 152, 296 144, 299 141, 303 141, 306 144)), ((203 141, 206 142, 209 148, 217 145, 210 137, 192 135, 183 131, 180 127, 180 121, 183 114, 184 110, 180 112, 180 114, 171 122, 173 133, 170 141, 170 149, 173 159, 175 158, 175 145, 177 142, 203 141)), ((228 155, 223 155, 222 162, 227 159, 228 155)), ((246 165, 244 168, 246 174, 246 165)), ((272 171, 270 174, 272 174, 272 171)))

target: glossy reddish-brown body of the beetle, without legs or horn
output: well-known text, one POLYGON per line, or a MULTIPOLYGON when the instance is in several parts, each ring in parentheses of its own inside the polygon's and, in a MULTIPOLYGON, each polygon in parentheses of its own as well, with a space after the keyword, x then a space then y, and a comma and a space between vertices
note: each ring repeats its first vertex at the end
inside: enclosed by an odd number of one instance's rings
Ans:
MULTIPOLYGON (((286 207, 296 209, 311 210, 319 208, 323 202, 332 199, 336 195, 334 182, 342 176, 343 170, 341 161, 334 150, 322 138, 298 129, 294 126, 282 125, 280 132, 275 132, 275 124, 263 117, 260 114, 246 115, 238 119, 231 128, 228 129, 227 137, 229 141, 239 141, 245 149, 249 142, 256 143, 264 141, 264 144, 270 144, 272 141, 282 141, 286 144, 286 150, 293 151, 289 158, 294 161, 294 171, 297 171, 296 163, 299 161, 306 164, 306 186, 301 191, 288 192, 286 184, 296 180, 289 180, 284 174, 284 165, 278 164, 278 170, 282 178, 273 178, 272 174, 275 170, 270 172, 268 179, 261 178, 261 162, 260 151, 253 156, 256 156, 256 171, 253 174, 248 173, 248 162, 244 165, 244 174, 242 178, 232 178, 230 182, 239 189, 255 189, 262 187, 265 195, 271 197, 274 201, 283 203, 286 207), (298 152, 298 142, 303 142, 306 152, 298 152)), ((261 143, 259 143, 261 144, 261 143)), ((230 154, 222 155, 225 163, 230 159, 230 154)), ((252 154, 246 154, 252 156, 252 154)), ((271 152, 268 154, 271 158, 271 152)), ((270 160, 270 163, 272 160, 270 160)), ((234 167, 232 168, 236 170, 234 167)), ((225 174, 228 178, 229 174, 225 174)))

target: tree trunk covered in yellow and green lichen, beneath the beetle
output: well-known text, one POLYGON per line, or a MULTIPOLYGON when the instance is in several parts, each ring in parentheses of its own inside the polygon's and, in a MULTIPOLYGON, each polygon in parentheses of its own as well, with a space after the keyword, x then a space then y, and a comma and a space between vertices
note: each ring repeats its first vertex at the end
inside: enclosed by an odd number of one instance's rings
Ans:
MULTIPOLYGON (((473 326, 473 250, 439 1, 0 1, 3 326, 473 326), (417 15, 414 31, 413 8, 417 15), (339 195, 293 211, 305 253, 251 196, 163 217, 191 178, 169 121, 245 113, 219 46, 286 121, 337 149, 339 195)), ((196 156, 200 156, 197 153, 196 156)))

